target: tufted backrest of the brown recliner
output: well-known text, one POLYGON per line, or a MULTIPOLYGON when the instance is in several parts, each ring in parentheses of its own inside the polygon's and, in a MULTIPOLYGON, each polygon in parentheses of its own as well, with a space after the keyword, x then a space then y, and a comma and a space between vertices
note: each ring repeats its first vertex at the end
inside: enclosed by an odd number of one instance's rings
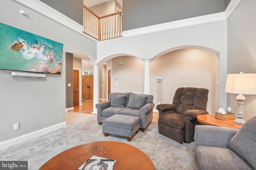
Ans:
POLYGON ((184 115, 190 109, 206 110, 208 92, 209 90, 205 88, 178 88, 172 100, 176 106, 176 113, 184 115))

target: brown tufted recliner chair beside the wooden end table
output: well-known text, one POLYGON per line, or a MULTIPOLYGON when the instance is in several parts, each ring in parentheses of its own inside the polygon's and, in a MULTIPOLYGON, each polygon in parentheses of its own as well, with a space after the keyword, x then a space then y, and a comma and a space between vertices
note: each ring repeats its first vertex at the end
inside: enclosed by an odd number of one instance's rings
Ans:
POLYGON ((208 114, 206 111, 208 89, 178 88, 172 104, 159 104, 159 133, 177 141, 190 143, 194 140, 194 126, 197 115, 208 114))

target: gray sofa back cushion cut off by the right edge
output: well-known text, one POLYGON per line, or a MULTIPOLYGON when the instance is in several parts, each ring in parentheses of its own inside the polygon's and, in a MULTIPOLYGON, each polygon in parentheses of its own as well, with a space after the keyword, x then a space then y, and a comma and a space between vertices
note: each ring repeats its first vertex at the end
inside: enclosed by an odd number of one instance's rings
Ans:
POLYGON ((231 139, 229 148, 256 169, 256 116, 250 118, 242 125, 231 139))

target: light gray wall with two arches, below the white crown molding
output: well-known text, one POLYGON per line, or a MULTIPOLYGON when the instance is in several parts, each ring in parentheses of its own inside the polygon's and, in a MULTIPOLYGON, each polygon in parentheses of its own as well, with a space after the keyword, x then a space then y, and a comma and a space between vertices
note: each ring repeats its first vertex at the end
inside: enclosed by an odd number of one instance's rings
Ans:
MULTIPOLYGON (((227 107, 226 93, 224 92, 227 74, 226 25, 226 20, 214 21, 153 33, 111 39, 108 41, 100 41, 97 43, 97 61, 95 61, 95 63, 103 64, 118 56, 132 56, 141 60, 151 59, 152 64, 158 57, 177 49, 192 48, 209 51, 213 55, 216 55, 215 65, 216 68, 218 68, 218 70, 216 69, 216 77, 214 78, 216 78, 215 80, 219 80, 219 86, 215 88, 219 93, 215 95, 216 101, 212 102, 213 106, 211 109, 211 112, 215 113, 216 107, 227 107)), ((134 75, 134 78, 136 77, 137 75, 134 75)), ((154 80, 151 80, 151 82, 152 81, 154 80)), ((112 84, 112 86, 114 85, 112 84)), ((215 85, 212 84, 211 86, 215 85)), ((129 86, 126 84, 124 88, 129 89, 129 86)), ((172 94, 170 95, 173 96, 172 94)), ((155 101, 156 105, 157 102, 158 101, 155 101)))

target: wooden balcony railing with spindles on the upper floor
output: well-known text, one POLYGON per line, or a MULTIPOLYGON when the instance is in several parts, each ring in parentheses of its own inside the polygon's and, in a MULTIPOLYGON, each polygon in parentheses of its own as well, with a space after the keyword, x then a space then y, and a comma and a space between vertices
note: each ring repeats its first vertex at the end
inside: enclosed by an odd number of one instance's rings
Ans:
POLYGON ((100 41, 122 37, 122 21, 122 12, 98 17, 84 6, 84 33, 100 41))

